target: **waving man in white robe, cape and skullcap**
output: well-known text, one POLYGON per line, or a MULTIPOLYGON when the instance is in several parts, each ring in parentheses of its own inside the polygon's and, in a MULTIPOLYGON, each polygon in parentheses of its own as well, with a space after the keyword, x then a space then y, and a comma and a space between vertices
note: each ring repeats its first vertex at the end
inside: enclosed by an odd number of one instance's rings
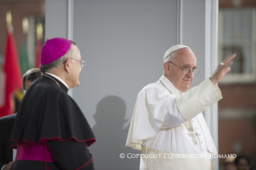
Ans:
POLYGON ((145 154, 140 156, 141 170, 213 169, 211 154, 217 150, 201 111, 222 98, 217 83, 230 71, 234 57, 227 57, 209 79, 189 90, 200 72, 193 51, 176 45, 165 52, 164 75, 140 91, 128 132, 126 146, 145 154))

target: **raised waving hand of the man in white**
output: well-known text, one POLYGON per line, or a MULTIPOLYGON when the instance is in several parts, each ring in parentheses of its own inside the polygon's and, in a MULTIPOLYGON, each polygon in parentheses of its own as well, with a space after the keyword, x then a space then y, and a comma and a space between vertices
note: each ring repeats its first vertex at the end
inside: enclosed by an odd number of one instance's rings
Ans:
POLYGON ((224 75, 226 75, 226 73, 230 71, 229 66, 233 63, 231 62, 231 60, 234 59, 235 56, 236 54, 230 55, 229 57, 224 59, 221 64, 217 66, 217 69, 213 72, 213 75, 209 78, 212 81, 213 85, 221 81, 224 75))

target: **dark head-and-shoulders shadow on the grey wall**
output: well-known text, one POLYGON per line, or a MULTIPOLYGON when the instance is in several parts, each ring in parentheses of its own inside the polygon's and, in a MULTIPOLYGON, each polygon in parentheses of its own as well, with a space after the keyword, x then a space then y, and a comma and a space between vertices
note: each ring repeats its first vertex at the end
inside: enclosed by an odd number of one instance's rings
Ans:
POLYGON ((97 104, 94 115, 96 123, 92 128, 96 142, 90 148, 95 169, 139 169, 140 158, 127 158, 128 153, 136 154, 140 151, 125 147, 129 128, 123 129, 124 123, 129 121, 125 119, 125 112, 124 100, 115 95, 107 96, 97 104), (124 159, 120 158, 121 153, 125 154, 124 159))

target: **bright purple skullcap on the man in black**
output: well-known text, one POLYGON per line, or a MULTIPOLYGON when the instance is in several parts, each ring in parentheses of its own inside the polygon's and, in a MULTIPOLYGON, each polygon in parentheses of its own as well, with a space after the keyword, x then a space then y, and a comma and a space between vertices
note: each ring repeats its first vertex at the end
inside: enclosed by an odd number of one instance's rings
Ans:
POLYGON ((71 41, 66 38, 51 38, 43 44, 41 64, 46 65, 61 58, 71 48, 71 41))

